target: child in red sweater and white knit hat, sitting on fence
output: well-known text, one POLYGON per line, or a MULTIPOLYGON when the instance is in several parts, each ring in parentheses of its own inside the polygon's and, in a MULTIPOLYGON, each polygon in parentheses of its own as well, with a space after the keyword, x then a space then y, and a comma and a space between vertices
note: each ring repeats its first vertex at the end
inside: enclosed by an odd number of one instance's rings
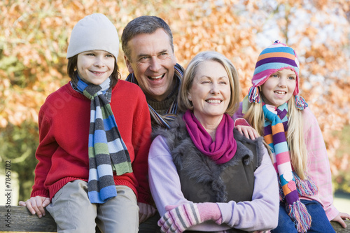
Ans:
POLYGON ((46 207, 58 232, 138 232, 139 207, 150 199, 151 119, 144 93, 119 80, 116 27, 88 15, 71 32, 71 82, 50 94, 39 113, 38 165, 31 198, 46 207))

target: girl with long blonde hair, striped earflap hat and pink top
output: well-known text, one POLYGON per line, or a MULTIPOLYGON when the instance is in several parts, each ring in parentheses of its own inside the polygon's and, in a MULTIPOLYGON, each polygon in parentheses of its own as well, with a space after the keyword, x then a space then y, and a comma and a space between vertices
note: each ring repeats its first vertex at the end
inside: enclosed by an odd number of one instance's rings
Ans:
POLYGON ((332 205, 330 165, 317 120, 299 93, 295 51, 276 41, 262 50, 253 86, 234 118, 244 116, 264 136, 279 175, 279 225, 272 232, 334 232, 346 227, 332 205))

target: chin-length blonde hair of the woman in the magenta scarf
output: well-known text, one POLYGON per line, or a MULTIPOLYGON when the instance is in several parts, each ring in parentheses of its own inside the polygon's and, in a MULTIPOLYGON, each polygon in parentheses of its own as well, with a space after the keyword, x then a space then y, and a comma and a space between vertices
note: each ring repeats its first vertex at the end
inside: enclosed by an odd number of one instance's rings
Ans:
POLYGON ((198 67, 202 62, 214 61, 218 62, 225 68, 228 73, 228 78, 230 80, 231 87, 231 99, 228 104, 228 109, 225 113, 232 116, 239 106, 239 98, 241 97, 241 89, 239 87, 238 72, 232 62, 219 52, 206 51, 198 53, 188 64, 185 74, 183 75, 183 80, 181 83, 181 88, 179 91, 178 103, 181 111, 186 111, 188 109, 193 110, 193 105, 188 99, 188 94, 190 88, 193 85, 193 80, 197 74, 198 67))

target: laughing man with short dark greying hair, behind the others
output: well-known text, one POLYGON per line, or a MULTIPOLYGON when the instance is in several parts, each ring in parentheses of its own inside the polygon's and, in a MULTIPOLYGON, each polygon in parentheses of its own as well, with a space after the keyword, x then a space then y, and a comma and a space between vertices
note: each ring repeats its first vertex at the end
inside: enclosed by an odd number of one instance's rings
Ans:
POLYGON ((123 30, 122 48, 130 72, 127 81, 146 94, 152 128, 169 128, 169 121, 179 113, 177 95, 183 76, 169 25, 160 17, 137 17, 123 30))

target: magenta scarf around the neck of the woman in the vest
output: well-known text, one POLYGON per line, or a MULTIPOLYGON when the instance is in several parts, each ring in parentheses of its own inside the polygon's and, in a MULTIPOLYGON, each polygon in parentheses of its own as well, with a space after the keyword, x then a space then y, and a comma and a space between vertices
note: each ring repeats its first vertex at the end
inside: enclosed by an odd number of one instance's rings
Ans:
POLYGON ((192 111, 188 110, 183 115, 188 134, 200 152, 214 160, 216 164, 224 164, 235 156, 237 143, 233 137, 235 122, 230 115, 223 114, 218 128, 216 129, 215 141, 197 120, 192 111))

